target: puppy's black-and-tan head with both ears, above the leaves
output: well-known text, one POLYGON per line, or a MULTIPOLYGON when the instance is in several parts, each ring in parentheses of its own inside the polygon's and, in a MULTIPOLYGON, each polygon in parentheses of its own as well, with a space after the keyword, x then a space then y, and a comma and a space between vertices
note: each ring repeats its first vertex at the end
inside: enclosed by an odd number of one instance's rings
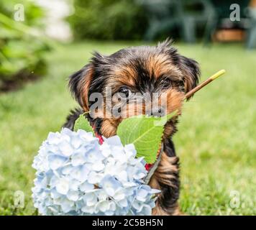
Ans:
POLYGON ((125 117, 180 111, 185 93, 196 86, 199 74, 196 61, 179 55, 166 41, 109 56, 95 53, 88 65, 71 75, 70 89, 85 111, 96 111, 91 116, 100 122, 101 134, 111 137, 125 117))

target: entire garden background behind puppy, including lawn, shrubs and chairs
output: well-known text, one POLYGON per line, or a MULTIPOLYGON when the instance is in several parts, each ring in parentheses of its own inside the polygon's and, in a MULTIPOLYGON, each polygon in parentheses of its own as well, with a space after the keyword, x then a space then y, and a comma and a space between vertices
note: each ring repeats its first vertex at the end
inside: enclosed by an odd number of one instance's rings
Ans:
POLYGON ((94 50, 167 37, 198 61, 201 80, 227 70, 180 118, 182 211, 256 215, 255 0, 1 0, 0 215, 37 214, 32 160, 77 106, 68 76, 94 50))

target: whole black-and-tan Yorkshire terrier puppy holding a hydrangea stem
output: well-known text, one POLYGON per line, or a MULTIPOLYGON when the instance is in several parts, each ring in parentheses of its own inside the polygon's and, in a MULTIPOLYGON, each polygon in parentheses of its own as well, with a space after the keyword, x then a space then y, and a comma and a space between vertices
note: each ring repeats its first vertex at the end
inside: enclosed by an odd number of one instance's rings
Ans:
MULTIPOLYGON (((196 87, 199 76, 198 63, 178 54, 170 40, 154 47, 128 47, 109 56, 96 52, 88 65, 70 76, 70 91, 81 109, 72 111, 64 126, 73 129, 78 116, 85 111, 90 111, 86 117, 96 133, 111 137, 116 134, 117 126, 127 116, 138 114, 155 116, 154 111, 157 112, 157 116, 169 114, 172 111, 178 111, 180 115, 183 98, 188 91, 196 87), (91 106, 96 101, 91 98, 93 93, 102 95, 103 106, 91 114, 91 106), (157 93, 158 101, 165 94, 165 106, 151 106, 149 112, 145 109, 147 101, 145 102, 145 97, 142 96, 145 93, 148 96, 157 93), (114 95, 121 96, 121 99, 124 99, 121 101, 126 103, 120 102, 119 99, 115 100, 114 95), (106 105, 105 99, 108 96, 113 98, 111 106, 106 105), (139 97, 142 98, 141 103, 135 103, 136 106, 134 106, 131 101, 134 102, 134 99, 139 97), (119 108, 115 116, 111 109, 117 107, 119 108), (122 116, 124 112, 128 115, 122 116), (108 113, 111 116, 106 116, 108 113)), ((149 183, 152 188, 161 190, 152 211, 154 215, 180 214, 178 207, 179 164, 172 141, 173 134, 177 131, 178 115, 165 124, 162 141, 163 153, 149 183)))

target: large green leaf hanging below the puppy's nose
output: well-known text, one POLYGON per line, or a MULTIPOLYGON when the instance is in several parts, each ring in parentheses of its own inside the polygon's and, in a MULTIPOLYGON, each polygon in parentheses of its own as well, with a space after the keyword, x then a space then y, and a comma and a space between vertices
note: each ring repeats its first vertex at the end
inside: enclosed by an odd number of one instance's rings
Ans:
POLYGON ((161 118, 134 116, 124 119, 119 124, 116 134, 122 144, 134 144, 137 157, 145 157, 147 163, 154 163, 157 160, 157 150, 160 148, 164 125, 174 114, 161 118))

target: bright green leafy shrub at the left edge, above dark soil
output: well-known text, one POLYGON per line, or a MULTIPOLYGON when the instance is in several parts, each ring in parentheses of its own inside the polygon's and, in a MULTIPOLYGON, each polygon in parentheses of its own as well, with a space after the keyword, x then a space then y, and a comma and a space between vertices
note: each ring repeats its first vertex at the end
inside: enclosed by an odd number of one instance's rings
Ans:
POLYGON ((49 45, 37 32, 43 12, 32 1, 0 1, 0 91, 45 73, 49 45), (14 20, 15 4, 24 6, 24 22, 14 20))

